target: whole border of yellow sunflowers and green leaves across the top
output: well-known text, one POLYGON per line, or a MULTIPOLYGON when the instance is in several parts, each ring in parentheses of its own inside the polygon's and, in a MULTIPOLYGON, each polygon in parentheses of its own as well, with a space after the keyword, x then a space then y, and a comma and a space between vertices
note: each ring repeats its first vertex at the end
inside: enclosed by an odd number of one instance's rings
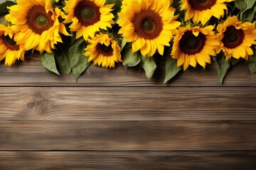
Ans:
POLYGON ((0 4, 0 61, 38 55, 51 72, 78 80, 90 64, 139 65, 151 79, 213 61, 220 83, 246 62, 256 72, 256 2, 250 0, 7 0, 0 4))

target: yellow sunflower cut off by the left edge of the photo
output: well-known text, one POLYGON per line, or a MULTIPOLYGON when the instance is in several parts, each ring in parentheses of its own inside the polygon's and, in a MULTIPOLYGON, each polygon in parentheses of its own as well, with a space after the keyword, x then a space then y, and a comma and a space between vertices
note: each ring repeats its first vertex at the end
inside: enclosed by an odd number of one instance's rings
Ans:
POLYGON ((0 25, 0 61, 5 59, 9 67, 16 60, 24 60, 25 50, 23 45, 16 44, 17 35, 15 26, 0 25))

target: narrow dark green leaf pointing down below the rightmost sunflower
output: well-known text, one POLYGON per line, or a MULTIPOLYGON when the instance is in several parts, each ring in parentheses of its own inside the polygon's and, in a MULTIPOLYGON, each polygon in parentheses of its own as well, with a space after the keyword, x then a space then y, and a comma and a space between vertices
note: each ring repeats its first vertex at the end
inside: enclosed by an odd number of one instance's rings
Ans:
POLYGON ((225 55, 223 52, 217 55, 217 57, 213 57, 213 60, 215 60, 217 72, 220 77, 220 84, 223 84, 223 79, 228 73, 228 69, 230 68, 230 60, 225 60, 225 55))

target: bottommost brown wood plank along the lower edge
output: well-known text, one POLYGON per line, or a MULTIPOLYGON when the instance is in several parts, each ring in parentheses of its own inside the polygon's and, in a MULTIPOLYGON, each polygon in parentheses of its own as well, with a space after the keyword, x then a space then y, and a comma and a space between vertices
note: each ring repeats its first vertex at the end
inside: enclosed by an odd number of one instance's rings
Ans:
POLYGON ((255 152, 0 152, 0 169, 253 169, 255 152))

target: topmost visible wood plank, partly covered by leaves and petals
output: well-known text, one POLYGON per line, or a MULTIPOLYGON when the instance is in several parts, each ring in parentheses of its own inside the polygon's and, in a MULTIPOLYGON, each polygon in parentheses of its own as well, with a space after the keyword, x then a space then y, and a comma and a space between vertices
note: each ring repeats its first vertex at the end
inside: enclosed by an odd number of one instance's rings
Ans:
POLYGON ((76 84, 72 74, 53 74, 42 67, 37 57, 30 57, 11 68, 0 64, 0 72, 0 86, 256 86, 256 74, 250 74, 246 64, 231 69, 223 85, 219 83, 214 64, 205 70, 189 68, 169 84, 163 84, 164 62, 159 62, 151 81, 146 79, 143 71, 140 73, 138 67, 126 72, 122 64, 117 64, 114 69, 91 65, 76 84))

